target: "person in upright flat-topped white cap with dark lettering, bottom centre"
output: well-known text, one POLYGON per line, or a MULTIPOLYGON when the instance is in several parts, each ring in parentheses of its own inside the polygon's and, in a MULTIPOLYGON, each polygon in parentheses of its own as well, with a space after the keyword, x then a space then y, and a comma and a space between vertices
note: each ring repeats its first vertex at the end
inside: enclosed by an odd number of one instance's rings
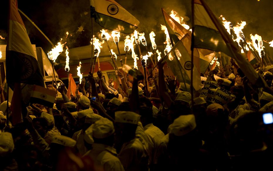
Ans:
POLYGON ((115 112, 115 134, 123 142, 118 154, 124 170, 148 170, 148 152, 136 138, 137 123, 140 115, 129 111, 115 112))

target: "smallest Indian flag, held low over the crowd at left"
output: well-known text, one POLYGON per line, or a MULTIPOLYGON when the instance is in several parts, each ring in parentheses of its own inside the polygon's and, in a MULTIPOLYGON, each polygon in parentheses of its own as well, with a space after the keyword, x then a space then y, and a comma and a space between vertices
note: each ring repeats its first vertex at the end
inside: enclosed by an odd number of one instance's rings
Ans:
POLYGON ((38 103, 52 108, 55 102, 55 97, 55 91, 38 85, 34 85, 29 102, 38 103))

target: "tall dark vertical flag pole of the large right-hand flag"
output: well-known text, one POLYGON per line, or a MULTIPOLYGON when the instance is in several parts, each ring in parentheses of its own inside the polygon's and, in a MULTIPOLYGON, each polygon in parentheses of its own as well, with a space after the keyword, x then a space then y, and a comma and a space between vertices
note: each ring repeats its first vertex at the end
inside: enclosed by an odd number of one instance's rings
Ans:
POLYGON ((192 106, 194 105, 193 102, 193 50, 194 50, 194 0, 191 0, 191 29, 192 29, 192 34, 191 34, 191 104, 192 106))

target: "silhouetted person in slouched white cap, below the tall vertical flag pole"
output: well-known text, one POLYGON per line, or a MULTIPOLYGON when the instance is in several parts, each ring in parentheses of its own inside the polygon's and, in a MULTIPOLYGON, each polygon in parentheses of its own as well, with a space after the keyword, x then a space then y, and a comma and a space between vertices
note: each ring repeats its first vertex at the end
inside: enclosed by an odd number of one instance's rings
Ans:
POLYGON ((170 126, 168 156, 169 170, 198 169, 199 148, 202 141, 196 134, 193 114, 181 115, 170 126))

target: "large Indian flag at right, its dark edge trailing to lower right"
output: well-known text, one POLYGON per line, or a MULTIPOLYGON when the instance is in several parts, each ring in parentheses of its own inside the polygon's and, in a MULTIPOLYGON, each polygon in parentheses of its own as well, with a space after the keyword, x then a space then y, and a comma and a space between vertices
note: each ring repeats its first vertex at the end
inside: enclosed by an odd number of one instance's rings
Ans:
POLYGON ((264 86, 259 75, 241 54, 227 30, 220 23, 204 0, 192 0, 193 10, 193 48, 210 49, 223 52, 235 59, 247 78, 258 87, 264 86))

